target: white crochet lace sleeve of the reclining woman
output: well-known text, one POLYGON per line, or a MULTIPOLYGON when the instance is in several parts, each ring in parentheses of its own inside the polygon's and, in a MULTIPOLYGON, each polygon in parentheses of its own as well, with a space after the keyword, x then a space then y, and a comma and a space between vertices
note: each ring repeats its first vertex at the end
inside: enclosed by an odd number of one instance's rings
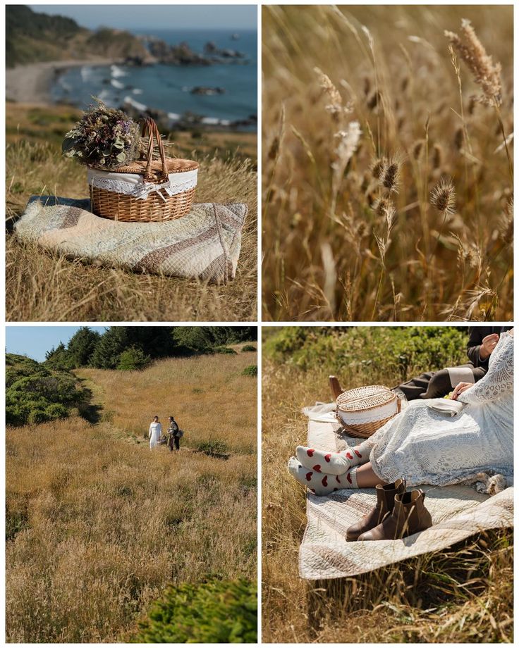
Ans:
POLYGON ((460 402, 478 405, 495 401, 506 392, 513 391, 513 337, 503 337, 492 355, 494 358, 487 375, 460 394, 460 402))

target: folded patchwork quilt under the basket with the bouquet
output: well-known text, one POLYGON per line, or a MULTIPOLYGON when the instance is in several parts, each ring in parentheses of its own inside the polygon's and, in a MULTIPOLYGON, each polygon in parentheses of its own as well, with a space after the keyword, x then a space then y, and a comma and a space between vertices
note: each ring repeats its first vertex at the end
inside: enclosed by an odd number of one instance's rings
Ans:
POLYGON ((122 223, 95 216, 89 199, 32 196, 15 232, 91 263, 225 283, 236 275, 247 211, 243 203, 200 203, 165 223, 122 223))

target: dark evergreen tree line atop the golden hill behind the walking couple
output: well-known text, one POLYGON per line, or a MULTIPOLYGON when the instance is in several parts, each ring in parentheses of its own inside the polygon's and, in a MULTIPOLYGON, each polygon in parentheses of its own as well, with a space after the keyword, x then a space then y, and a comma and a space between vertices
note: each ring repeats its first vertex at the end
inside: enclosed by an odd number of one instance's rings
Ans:
POLYGON ((255 326, 111 326, 104 333, 83 326, 67 345, 45 354, 46 364, 67 369, 135 370, 152 360, 226 351, 226 344, 255 341, 255 326))

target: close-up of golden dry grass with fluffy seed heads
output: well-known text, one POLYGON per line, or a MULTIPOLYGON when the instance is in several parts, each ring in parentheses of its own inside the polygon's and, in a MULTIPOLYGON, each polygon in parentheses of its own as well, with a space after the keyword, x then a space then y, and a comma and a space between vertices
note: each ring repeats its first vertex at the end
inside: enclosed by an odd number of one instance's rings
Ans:
POLYGON ((264 319, 512 318, 512 7, 265 6, 262 39, 264 319))

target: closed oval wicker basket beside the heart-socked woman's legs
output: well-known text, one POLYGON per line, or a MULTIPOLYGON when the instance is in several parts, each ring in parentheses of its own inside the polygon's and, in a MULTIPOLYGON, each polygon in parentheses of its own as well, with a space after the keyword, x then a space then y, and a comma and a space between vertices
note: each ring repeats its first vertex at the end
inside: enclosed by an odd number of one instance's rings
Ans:
POLYGON ((389 387, 367 385, 343 392, 336 400, 337 417, 346 432, 367 439, 400 411, 400 400, 389 387))

